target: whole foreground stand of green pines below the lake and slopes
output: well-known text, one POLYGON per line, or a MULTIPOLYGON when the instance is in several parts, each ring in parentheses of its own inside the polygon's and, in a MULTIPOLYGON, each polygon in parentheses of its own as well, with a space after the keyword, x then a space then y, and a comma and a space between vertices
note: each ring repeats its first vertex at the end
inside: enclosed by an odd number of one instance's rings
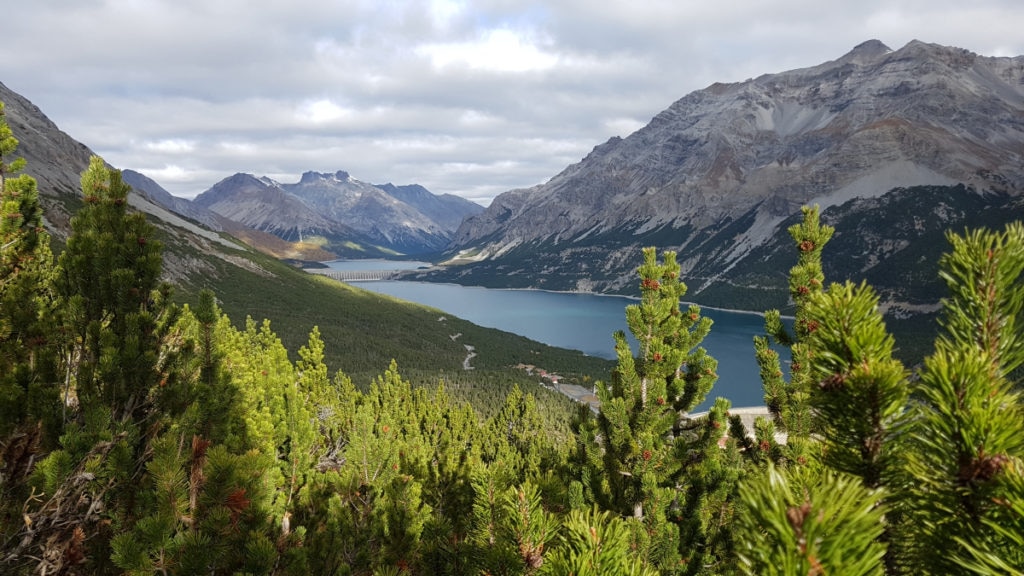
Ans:
POLYGON ((2 574, 1024 574, 1019 222, 947 235, 939 335, 904 366, 804 208, 753 430, 724 399, 690 417, 714 327, 645 249, 639 345, 614 334, 600 409, 555 429, 518 387, 483 415, 416 367, 329 373, 315 326, 289 351, 212 291, 176 303, 99 158, 51 251, 16 145, 0 116, 2 574))

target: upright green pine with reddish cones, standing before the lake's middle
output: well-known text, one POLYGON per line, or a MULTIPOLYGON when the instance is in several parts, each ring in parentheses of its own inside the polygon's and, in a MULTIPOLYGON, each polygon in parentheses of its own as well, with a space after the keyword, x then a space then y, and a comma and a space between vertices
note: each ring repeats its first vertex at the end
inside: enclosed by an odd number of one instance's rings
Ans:
POLYGON ((597 502, 639 523, 634 532, 638 548, 652 565, 675 571, 684 563, 683 554, 693 568, 702 565, 705 553, 716 553, 706 547, 715 538, 702 530, 708 525, 688 526, 681 540, 679 525, 668 515, 688 490, 686 498, 701 502, 693 507, 722 503, 705 499, 703 490, 717 490, 717 481, 701 478, 697 464, 717 456, 725 427, 714 418, 688 417, 717 378, 717 362, 698 346, 711 320, 700 318, 696 305, 680 310, 686 285, 679 279, 674 252, 666 252, 664 262, 653 248, 643 254, 641 300, 626 307, 639 351, 634 357, 626 335, 614 335, 618 364, 610 382, 597 384, 601 409, 593 429, 582 430, 582 460, 590 463, 584 479, 597 502))

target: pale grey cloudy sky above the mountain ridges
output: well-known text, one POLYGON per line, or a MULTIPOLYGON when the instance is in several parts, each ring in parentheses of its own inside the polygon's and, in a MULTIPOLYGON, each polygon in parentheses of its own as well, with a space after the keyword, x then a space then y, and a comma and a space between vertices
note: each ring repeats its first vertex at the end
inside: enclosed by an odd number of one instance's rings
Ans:
POLYGON ((1021 0, 32 0, 0 82, 193 197, 347 170, 487 204, 685 94, 877 38, 1024 54, 1021 0))

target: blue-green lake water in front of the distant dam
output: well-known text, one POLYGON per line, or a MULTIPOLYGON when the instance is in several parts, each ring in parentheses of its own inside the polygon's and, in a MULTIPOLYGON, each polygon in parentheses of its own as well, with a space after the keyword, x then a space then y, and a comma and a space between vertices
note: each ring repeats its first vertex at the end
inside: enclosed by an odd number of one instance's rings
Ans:
MULTIPOLYGON (((629 332, 625 307, 636 301, 622 296, 421 282, 358 282, 354 286, 440 308, 480 326, 609 359, 614 358, 612 334, 629 332)), ((718 360, 719 372, 719 381, 702 407, 719 396, 728 398, 734 407, 764 404, 753 342, 753 336, 764 332, 764 319, 707 308, 701 314, 714 321, 703 346, 718 360)), ((783 354, 782 358, 788 357, 783 354)))

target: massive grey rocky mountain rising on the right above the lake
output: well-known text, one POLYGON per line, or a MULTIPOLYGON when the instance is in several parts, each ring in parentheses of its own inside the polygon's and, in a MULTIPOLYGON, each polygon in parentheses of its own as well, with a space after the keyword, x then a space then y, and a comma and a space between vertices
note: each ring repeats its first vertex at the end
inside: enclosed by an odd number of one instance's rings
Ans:
POLYGON ((831 273, 872 276, 886 305, 927 311, 934 286, 908 276, 934 269, 942 231, 1024 217, 1022 191, 1024 56, 871 40, 684 96, 500 195, 456 233, 447 253, 463 265, 424 278, 632 293, 640 248, 654 245, 679 252, 689 297, 763 310, 786 303, 785 227, 818 204, 836 247, 850 241, 831 273))

